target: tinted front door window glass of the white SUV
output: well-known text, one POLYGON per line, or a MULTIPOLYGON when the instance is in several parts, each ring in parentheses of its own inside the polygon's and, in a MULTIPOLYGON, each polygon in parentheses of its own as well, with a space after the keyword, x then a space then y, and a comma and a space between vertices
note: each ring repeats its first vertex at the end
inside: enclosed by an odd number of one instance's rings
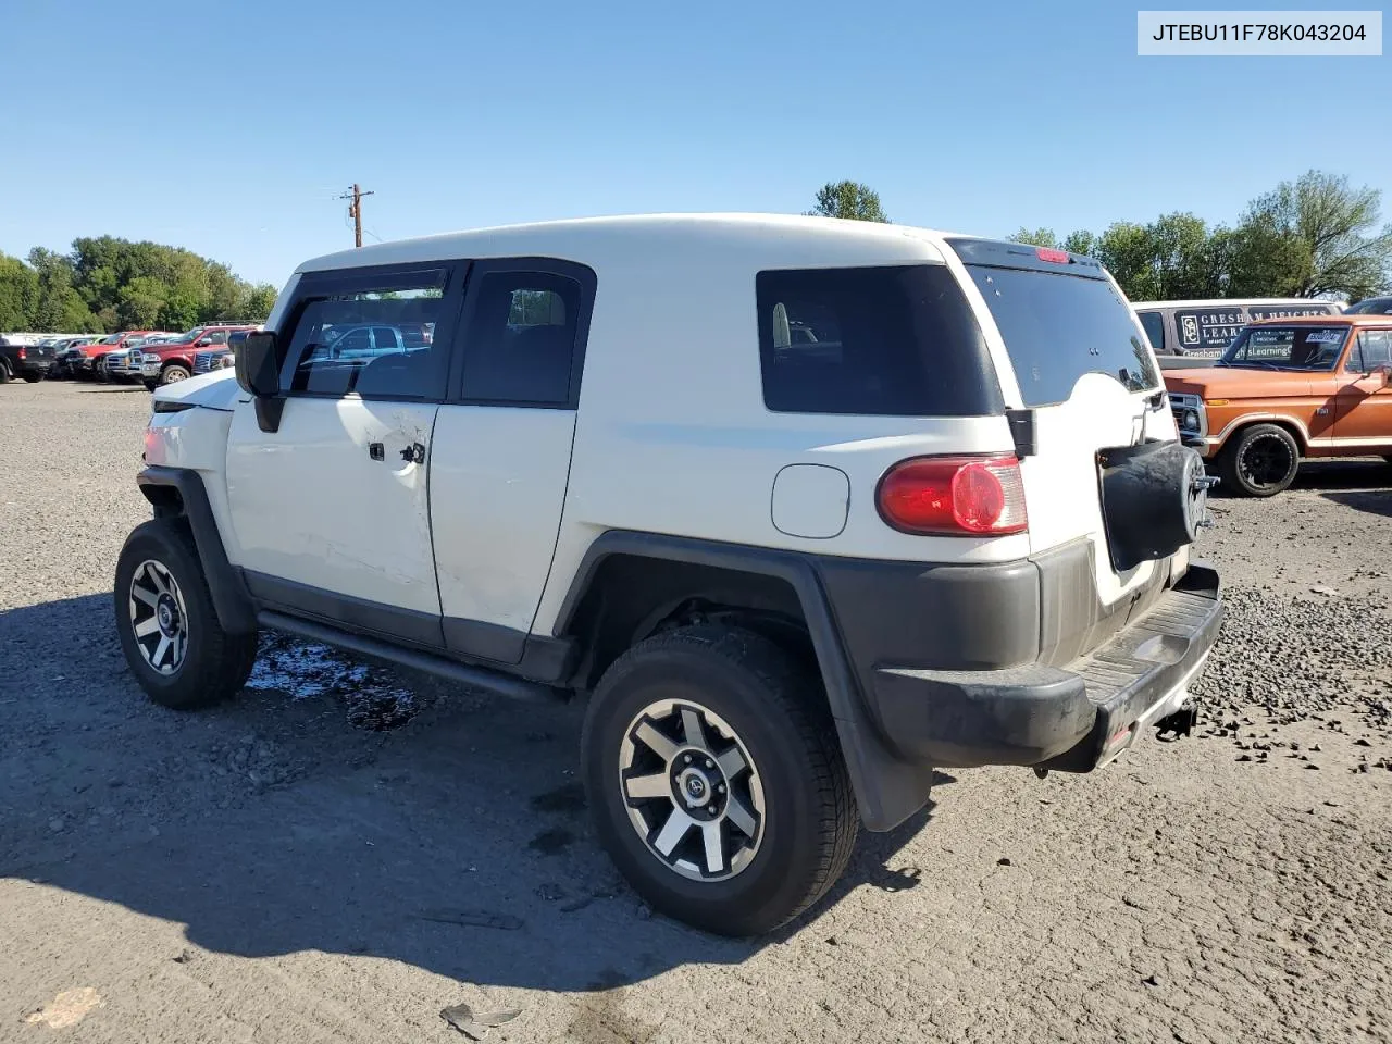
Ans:
POLYGON ((349 278, 299 309, 285 352, 290 394, 363 398, 444 398, 448 345, 422 335, 441 320, 448 271, 349 278), (405 331, 415 331, 408 335, 405 331))

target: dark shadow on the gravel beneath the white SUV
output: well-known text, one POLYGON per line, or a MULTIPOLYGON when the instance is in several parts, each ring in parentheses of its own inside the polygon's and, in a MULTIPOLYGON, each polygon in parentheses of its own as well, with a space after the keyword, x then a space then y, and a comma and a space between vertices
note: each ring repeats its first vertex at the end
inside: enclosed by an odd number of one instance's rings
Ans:
MULTIPOLYGON (((0 878, 184 924, 210 951, 561 991, 736 963, 809 922, 729 941, 653 917, 590 838, 574 706, 462 695, 383 732, 327 686, 177 714, 145 703, 110 612, 89 596, 0 614, 0 649, 26 649, 0 682, 0 878)), ((931 810, 862 834, 810 920, 856 887, 916 887, 895 863, 931 810)))

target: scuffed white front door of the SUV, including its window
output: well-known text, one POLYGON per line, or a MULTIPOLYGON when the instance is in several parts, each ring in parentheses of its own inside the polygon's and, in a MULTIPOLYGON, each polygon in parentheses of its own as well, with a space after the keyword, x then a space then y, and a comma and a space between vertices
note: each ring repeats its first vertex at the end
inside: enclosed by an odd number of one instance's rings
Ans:
POLYGON ((296 287, 277 331, 278 430, 239 404, 227 448, 237 564, 258 600, 443 644, 429 466, 462 274, 348 269, 296 287))

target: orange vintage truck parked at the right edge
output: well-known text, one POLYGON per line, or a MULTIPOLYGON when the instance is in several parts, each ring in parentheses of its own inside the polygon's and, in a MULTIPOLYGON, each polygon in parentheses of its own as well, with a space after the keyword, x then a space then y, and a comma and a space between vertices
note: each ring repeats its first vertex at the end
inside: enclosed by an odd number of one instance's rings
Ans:
POLYGON ((1270 319, 1210 369, 1166 370, 1179 436, 1224 486, 1271 497, 1303 457, 1392 462, 1392 316, 1270 319))

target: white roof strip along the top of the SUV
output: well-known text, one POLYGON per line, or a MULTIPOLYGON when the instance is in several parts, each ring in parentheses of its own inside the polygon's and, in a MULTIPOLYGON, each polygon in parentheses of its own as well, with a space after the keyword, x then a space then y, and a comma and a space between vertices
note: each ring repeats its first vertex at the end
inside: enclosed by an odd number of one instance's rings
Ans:
POLYGON ((816 246, 816 263, 820 264, 866 258, 940 260, 938 244, 945 235, 952 232, 795 214, 632 214, 498 226, 373 244, 315 258, 296 271, 450 258, 546 256, 593 263, 619 253, 625 259, 640 258, 644 252, 670 251, 678 244, 683 248, 699 245, 704 252, 752 248, 754 253, 781 245, 782 253, 792 255, 798 248, 816 246))

